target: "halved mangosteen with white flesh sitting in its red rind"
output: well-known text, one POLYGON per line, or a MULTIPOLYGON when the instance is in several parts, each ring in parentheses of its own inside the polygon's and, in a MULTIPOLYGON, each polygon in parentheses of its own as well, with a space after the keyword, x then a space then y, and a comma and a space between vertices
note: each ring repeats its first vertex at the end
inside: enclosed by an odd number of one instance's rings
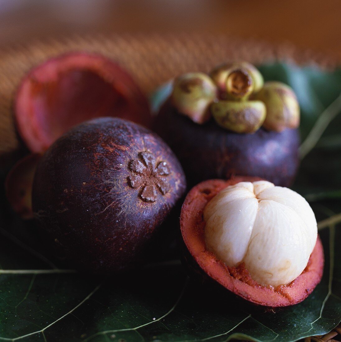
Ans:
POLYGON ((321 280, 315 216, 288 188, 255 177, 204 181, 188 193, 180 227, 191 262, 257 305, 299 303, 321 280))

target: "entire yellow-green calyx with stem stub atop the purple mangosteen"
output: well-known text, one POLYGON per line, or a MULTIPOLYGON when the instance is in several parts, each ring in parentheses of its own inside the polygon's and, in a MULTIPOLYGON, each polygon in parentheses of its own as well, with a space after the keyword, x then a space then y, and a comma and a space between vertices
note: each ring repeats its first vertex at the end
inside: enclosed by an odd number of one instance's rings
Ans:
POLYGON ((237 133, 254 133, 261 126, 281 132, 297 128, 300 108, 293 90, 281 82, 265 82, 246 62, 219 66, 210 76, 189 73, 174 81, 170 102, 179 113, 203 124, 216 123, 237 133))

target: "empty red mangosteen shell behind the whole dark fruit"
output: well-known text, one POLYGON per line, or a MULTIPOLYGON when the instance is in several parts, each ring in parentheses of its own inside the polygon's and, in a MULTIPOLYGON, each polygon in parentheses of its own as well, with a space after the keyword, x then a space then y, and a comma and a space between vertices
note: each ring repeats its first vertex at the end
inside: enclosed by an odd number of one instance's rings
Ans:
POLYGON ((146 96, 110 59, 71 52, 32 69, 14 102, 16 128, 31 152, 44 152, 71 127, 86 120, 122 117, 148 127, 146 96))

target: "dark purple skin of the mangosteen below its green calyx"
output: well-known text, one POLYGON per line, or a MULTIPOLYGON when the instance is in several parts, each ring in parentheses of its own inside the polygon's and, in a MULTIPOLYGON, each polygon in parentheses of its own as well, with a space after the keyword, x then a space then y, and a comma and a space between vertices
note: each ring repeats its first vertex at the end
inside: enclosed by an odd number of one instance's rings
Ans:
POLYGON ((213 119, 196 124, 169 102, 161 107, 154 128, 178 157, 189 186, 233 175, 257 176, 290 186, 299 166, 297 129, 234 133, 220 128, 213 119))

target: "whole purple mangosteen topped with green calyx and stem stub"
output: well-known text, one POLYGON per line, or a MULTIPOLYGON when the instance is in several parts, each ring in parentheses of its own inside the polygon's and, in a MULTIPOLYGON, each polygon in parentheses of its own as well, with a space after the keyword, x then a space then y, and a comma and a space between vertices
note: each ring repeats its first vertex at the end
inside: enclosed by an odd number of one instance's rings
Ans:
POLYGON ((154 129, 192 186, 233 175, 289 186, 299 166, 299 121, 292 89, 264 83, 253 65, 241 62, 175 79, 154 129))

